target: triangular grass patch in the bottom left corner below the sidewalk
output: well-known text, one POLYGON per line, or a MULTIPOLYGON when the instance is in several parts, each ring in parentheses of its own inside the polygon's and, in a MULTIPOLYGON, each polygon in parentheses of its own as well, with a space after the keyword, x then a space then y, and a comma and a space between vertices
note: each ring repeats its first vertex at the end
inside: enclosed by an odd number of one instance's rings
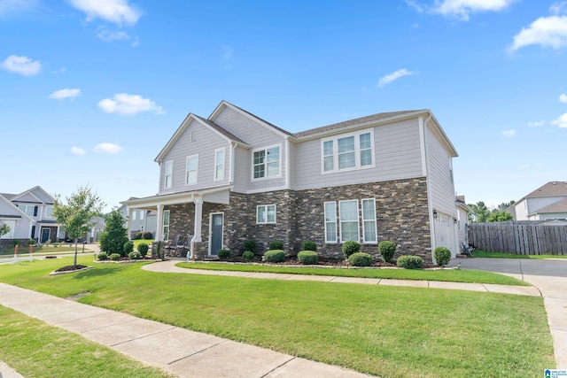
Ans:
POLYGON ((104 345, 51 327, 2 305, 0 356, 26 377, 172 376, 158 368, 128 359, 104 345))

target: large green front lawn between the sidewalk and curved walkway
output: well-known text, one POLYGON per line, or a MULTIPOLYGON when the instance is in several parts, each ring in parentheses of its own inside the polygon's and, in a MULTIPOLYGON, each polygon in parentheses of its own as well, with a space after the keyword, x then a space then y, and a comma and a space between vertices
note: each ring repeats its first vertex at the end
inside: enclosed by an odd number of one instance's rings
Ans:
POLYGON ((159 274, 138 264, 48 275, 65 265, 3 265, 0 281, 58 297, 89 292, 82 303, 383 378, 539 377, 555 366, 541 297, 159 274))

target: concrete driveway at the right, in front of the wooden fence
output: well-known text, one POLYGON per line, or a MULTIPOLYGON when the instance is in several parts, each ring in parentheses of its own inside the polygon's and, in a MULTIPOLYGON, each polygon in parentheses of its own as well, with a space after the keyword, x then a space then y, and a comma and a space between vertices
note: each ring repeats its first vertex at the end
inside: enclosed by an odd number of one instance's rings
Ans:
POLYGON ((462 269, 506 274, 531 283, 544 298, 558 369, 567 369, 567 259, 458 258, 462 269))

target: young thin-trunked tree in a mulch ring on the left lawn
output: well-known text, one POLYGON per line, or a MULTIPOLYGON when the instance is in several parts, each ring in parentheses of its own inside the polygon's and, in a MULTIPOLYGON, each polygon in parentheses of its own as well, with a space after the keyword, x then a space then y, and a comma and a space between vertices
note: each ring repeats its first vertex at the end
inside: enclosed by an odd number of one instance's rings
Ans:
POLYGON ((58 224, 66 229, 67 235, 74 240, 74 262, 77 265, 77 243, 82 235, 89 232, 96 217, 103 209, 105 203, 93 193, 89 187, 79 187, 76 193, 66 197, 67 204, 63 204, 61 196, 55 195, 53 204, 53 217, 58 224))

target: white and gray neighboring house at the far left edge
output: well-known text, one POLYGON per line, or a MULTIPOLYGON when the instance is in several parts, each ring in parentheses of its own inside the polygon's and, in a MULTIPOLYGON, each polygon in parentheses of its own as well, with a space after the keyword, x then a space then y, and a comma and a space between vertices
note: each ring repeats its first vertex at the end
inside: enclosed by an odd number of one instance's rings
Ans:
POLYGON ((41 187, 19 194, 0 193, 0 220, 10 226, 2 239, 35 239, 45 243, 65 238, 65 231, 53 218, 53 197, 41 187))

